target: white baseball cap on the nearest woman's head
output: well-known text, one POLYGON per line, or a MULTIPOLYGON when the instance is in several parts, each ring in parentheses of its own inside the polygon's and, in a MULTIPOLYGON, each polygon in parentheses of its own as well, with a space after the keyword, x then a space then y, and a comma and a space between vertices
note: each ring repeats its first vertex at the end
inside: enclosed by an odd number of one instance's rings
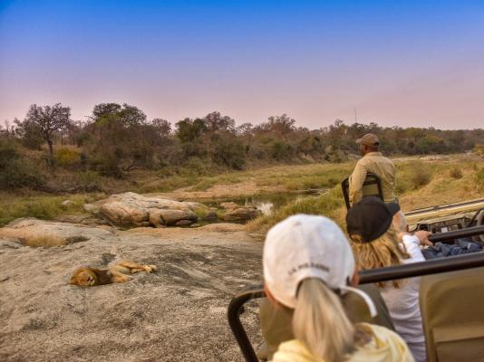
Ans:
POLYGON ((348 286, 355 270, 353 251, 340 227, 327 217, 296 214, 273 226, 266 235, 263 265, 266 287, 286 307, 295 308, 301 281, 318 278, 333 291, 359 294, 376 316, 370 297, 348 286))

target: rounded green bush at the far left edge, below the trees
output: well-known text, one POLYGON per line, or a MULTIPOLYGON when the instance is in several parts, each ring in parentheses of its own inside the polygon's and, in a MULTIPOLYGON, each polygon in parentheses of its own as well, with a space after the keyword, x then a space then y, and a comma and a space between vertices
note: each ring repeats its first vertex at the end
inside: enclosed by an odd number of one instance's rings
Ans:
POLYGON ((0 189, 41 184, 40 171, 20 153, 15 139, 0 138, 0 189))

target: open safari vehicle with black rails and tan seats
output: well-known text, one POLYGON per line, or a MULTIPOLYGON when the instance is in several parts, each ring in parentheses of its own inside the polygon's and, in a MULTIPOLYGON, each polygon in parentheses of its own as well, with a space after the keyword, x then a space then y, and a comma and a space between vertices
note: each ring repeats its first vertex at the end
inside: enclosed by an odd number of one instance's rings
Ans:
MULTIPOLYGON (((366 181, 363 195, 382 197, 378 177, 370 175, 366 181)), ((347 179, 342 186, 349 207, 347 179)), ((422 208, 405 215, 411 231, 430 231, 433 243, 453 243, 464 237, 484 242, 484 199, 422 208)), ((360 284, 417 276, 422 277, 420 304, 428 361, 482 360, 484 252, 361 271, 360 284)), ((258 358, 240 315, 249 300, 264 297, 263 286, 258 285, 241 291, 228 306, 228 324, 247 362, 258 358)))

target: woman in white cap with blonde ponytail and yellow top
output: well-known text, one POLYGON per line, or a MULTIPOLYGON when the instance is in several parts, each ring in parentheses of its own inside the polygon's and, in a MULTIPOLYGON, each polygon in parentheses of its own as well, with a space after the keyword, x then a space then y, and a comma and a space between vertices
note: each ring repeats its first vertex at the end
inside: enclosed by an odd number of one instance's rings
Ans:
POLYGON ((294 310, 295 339, 283 342, 275 362, 413 361, 396 333, 373 324, 353 324, 340 300, 360 295, 353 252, 341 229, 324 216, 298 214, 276 224, 263 252, 267 298, 294 310))

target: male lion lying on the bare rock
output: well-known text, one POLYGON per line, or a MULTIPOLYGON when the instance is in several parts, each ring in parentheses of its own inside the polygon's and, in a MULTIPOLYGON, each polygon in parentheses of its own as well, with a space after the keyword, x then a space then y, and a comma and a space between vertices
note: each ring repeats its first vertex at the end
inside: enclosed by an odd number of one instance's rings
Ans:
POLYGON ((127 274, 134 274, 139 271, 152 272, 156 270, 157 267, 155 265, 121 261, 112 265, 109 269, 79 268, 74 271, 69 283, 82 287, 93 287, 95 285, 129 281, 131 278, 127 274))

